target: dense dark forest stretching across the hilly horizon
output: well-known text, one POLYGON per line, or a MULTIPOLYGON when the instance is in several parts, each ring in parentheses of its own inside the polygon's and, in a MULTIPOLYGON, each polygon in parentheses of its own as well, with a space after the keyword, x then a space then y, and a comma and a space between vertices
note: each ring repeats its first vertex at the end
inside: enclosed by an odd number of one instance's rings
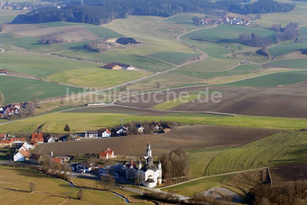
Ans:
POLYGON ((152 15, 169 17, 181 12, 206 13, 208 10, 220 9, 238 14, 288 12, 294 9, 292 4, 282 4, 274 0, 259 0, 242 5, 237 1, 208 0, 85 0, 85 5, 68 5, 41 8, 26 14, 26 21, 35 23, 50 21, 71 21, 100 25, 115 18, 128 15, 152 15))

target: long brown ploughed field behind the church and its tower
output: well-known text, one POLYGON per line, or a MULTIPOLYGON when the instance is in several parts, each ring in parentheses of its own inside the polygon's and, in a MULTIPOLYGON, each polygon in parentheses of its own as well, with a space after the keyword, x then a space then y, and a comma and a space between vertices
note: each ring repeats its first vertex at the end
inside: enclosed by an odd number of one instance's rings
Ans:
POLYGON ((45 143, 38 146, 34 153, 46 154, 52 150, 55 155, 76 155, 76 153, 84 155, 99 153, 103 149, 112 147, 117 155, 142 157, 146 145, 150 141, 153 156, 160 156, 172 149, 213 149, 241 146, 276 132, 276 130, 227 126, 189 126, 159 135, 130 135, 106 139, 45 143), (134 146, 127 146, 127 144, 134 146), (144 149, 136 150, 135 147, 144 147, 144 149))

